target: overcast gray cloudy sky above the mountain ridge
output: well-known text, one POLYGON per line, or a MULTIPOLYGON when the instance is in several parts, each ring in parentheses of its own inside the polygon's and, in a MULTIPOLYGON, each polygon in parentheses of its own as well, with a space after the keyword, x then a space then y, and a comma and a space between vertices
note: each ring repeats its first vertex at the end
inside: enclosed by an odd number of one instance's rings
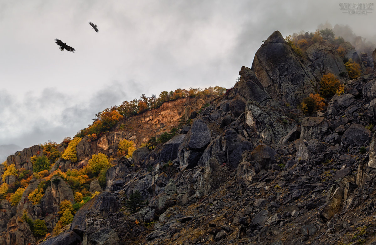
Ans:
POLYGON ((329 21, 373 36, 375 20, 327 0, 0 0, 0 145, 60 143, 141 94, 230 88, 275 30, 329 21))

